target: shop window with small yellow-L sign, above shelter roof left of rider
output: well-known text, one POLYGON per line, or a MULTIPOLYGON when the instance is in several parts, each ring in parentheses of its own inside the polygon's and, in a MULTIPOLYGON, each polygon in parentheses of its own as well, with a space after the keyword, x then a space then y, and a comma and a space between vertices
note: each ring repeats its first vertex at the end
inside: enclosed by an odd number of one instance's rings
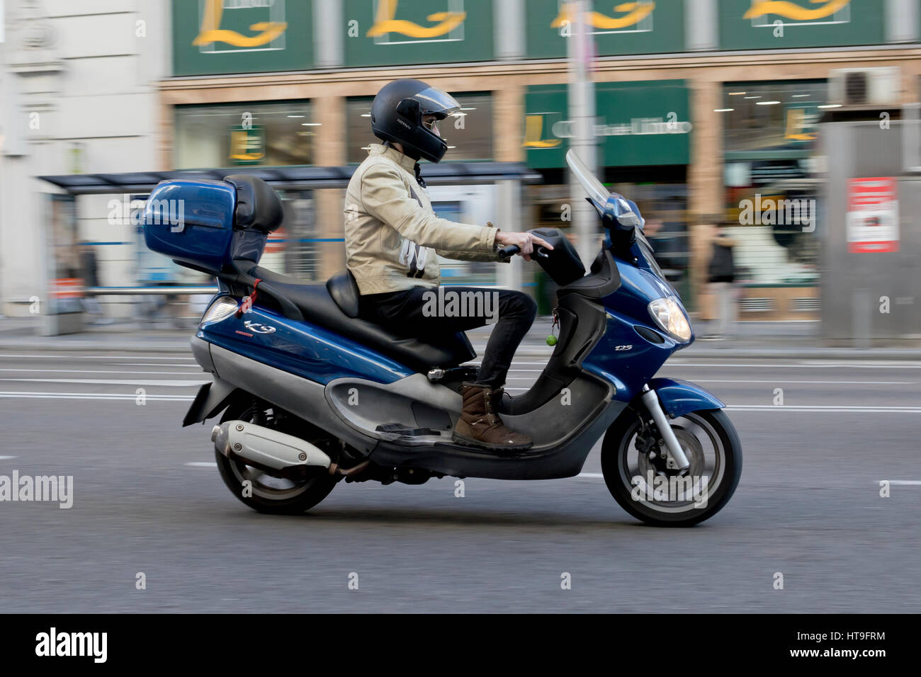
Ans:
POLYGON ((309 101, 176 107, 176 169, 313 163, 309 101))

